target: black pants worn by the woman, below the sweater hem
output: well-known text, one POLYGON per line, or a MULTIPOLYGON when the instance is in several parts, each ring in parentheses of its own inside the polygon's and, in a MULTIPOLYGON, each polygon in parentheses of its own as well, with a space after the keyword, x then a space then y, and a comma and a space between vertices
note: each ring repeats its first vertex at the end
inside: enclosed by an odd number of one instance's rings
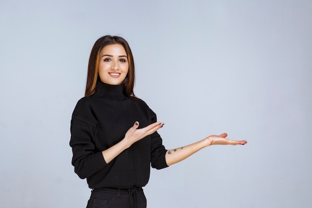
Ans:
POLYGON ((94 189, 87 208, 146 208, 147 202, 142 188, 94 189))

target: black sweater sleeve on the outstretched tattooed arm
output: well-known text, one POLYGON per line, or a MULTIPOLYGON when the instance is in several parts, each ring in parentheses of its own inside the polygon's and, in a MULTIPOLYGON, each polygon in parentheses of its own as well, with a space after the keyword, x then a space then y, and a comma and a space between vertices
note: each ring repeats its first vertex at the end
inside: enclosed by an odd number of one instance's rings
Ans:
MULTIPOLYGON (((150 109, 150 115, 152 123, 157 121, 156 114, 150 109)), ((165 160, 165 154, 167 150, 162 145, 162 139, 160 135, 155 132, 152 135, 151 141, 151 166, 156 169, 163 169, 168 167, 165 160)))

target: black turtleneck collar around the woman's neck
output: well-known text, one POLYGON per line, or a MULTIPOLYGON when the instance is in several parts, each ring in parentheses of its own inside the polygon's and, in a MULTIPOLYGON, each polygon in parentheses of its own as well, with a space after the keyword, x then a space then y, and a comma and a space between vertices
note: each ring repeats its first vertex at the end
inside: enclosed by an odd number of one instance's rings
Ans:
POLYGON ((109 99, 122 100, 127 98, 124 94, 123 85, 110 85, 103 82, 97 82, 97 94, 109 99))

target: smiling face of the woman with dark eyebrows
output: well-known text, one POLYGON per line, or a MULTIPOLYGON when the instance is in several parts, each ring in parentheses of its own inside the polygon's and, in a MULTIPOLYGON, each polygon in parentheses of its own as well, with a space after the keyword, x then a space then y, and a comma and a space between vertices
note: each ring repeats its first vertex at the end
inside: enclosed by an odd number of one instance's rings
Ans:
POLYGON ((128 70, 129 62, 124 46, 112 44, 101 50, 99 76, 102 82, 120 85, 126 78, 128 70))

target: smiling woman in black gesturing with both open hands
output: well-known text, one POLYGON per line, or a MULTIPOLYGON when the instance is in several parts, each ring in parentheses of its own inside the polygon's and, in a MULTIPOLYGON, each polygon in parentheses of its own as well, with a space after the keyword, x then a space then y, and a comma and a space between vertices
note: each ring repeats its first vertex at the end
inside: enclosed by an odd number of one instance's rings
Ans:
POLYGON ((210 145, 244 145, 209 136, 166 150, 156 132, 164 123, 133 92, 135 67, 131 49, 119 36, 99 38, 91 51, 85 97, 71 120, 70 146, 75 173, 92 189, 87 208, 146 208, 142 187, 150 165, 166 168, 210 145))

